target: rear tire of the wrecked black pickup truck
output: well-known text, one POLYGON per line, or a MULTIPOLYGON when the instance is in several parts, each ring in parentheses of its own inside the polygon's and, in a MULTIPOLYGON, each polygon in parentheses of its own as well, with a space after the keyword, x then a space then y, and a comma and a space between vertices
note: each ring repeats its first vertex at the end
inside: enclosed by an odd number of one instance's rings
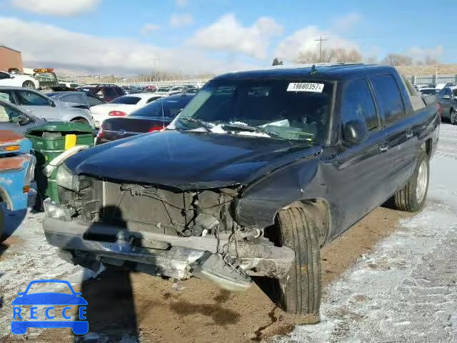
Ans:
POLYGON ((400 189, 396 194, 393 196, 393 205, 396 209, 405 212, 418 212, 423 209, 423 205, 427 199, 427 192, 428 192, 428 182, 430 179, 430 165, 428 155, 425 151, 421 151, 421 154, 418 156, 418 161, 416 164, 416 169, 414 169, 413 176, 409 179, 408 184, 405 187, 400 189), (421 197, 421 194, 418 194, 418 177, 419 177, 419 169, 422 166, 426 166, 426 187, 425 193, 421 197), (421 197, 421 199, 418 199, 421 197))

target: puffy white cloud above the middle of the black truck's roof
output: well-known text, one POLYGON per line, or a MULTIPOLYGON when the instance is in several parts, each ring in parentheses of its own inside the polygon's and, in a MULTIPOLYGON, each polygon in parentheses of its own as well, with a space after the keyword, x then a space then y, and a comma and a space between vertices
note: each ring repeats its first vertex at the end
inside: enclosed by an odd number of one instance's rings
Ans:
POLYGON ((271 18, 261 17, 252 26, 242 26, 233 14, 226 14, 197 31, 188 44, 216 51, 241 52, 264 59, 271 38, 282 33, 283 27, 271 18))

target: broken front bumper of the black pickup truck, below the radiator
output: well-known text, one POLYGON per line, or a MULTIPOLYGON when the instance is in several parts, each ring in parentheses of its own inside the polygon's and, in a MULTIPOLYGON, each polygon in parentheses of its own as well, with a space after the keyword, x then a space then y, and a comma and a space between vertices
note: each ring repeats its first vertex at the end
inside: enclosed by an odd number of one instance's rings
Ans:
MULTIPOLYGON (((188 279, 196 276, 194 267, 201 259, 208 255, 221 257, 218 241, 212 237, 177 237, 146 230, 129 232, 106 224, 64 222, 50 217, 44 219, 43 227, 49 244, 71 252, 76 258, 71 261, 74 263, 83 257, 88 262, 119 266, 134 262, 134 269, 140 272, 188 279)), ((233 258, 233 243, 221 244, 226 244, 227 255, 233 258)), ((251 276, 282 277, 295 260, 288 247, 238 242, 237 250, 239 267, 251 276)))

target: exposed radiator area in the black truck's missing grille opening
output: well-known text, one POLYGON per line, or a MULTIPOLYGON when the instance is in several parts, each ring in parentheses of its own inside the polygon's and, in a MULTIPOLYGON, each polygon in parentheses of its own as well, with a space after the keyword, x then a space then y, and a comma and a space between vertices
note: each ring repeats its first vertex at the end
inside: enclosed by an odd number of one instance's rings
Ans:
POLYGON ((151 184, 91 177, 81 180, 88 187, 79 193, 62 190, 60 197, 89 222, 185 237, 231 231, 233 227, 229 208, 237 189, 183 192, 151 184))

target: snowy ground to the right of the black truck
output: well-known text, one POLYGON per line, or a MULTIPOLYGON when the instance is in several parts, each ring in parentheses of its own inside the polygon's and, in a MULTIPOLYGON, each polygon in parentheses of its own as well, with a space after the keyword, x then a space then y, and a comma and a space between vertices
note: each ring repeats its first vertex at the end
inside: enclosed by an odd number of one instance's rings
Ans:
POLYGON ((457 342, 457 128, 441 127, 421 214, 331 284, 321 323, 276 342, 457 342))

